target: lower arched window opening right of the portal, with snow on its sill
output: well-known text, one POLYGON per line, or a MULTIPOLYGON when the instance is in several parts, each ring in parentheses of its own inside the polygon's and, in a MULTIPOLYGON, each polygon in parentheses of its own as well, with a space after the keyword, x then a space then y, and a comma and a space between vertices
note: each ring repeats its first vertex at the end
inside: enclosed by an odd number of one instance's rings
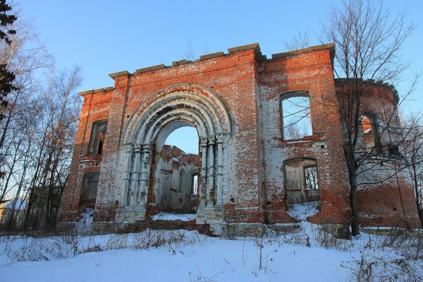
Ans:
POLYGON ((284 165, 287 204, 320 199, 317 163, 313 159, 293 159, 284 165))

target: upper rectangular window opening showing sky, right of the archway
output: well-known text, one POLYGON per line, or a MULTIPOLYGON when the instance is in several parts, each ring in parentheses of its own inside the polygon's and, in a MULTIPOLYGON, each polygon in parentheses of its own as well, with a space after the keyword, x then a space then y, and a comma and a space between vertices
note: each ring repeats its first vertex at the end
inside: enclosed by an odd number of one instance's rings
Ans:
POLYGON ((310 95, 306 91, 281 95, 282 133, 284 139, 313 135, 310 95))

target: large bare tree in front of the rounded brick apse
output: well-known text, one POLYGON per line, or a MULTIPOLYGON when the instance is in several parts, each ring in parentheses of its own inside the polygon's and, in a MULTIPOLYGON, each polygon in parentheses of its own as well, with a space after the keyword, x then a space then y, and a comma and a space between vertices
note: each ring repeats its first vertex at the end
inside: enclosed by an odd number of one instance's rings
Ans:
MULTIPOLYGON (((322 38, 325 42, 334 42, 336 46, 334 73, 338 80, 339 113, 343 131, 343 151, 348 170, 350 186, 350 207, 352 211, 352 234, 359 234, 359 218, 356 206, 357 188, 375 184, 363 177, 378 165, 377 156, 386 156, 390 147, 399 147, 407 134, 396 125, 396 108, 384 117, 379 126, 379 136, 391 135, 391 146, 382 144, 380 138, 372 146, 366 146, 360 136, 363 135, 363 112, 369 107, 370 100, 365 98, 373 82, 396 82, 409 66, 401 57, 401 47, 415 28, 407 20, 407 11, 394 11, 383 1, 343 0, 331 8, 327 22, 321 24, 322 38), (364 81, 369 79, 369 81, 364 81)), ((417 78, 416 78, 417 79, 417 78)), ((416 80, 413 83, 415 85, 416 80)), ((412 89, 413 89, 412 87, 412 89)), ((409 92, 411 93, 412 90, 409 92)), ((407 94, 405 94, 407 96, 407 94)), ((401 102, 400 102, 401 103, 401 102)), ((376 125, 375 121, 371 121, 376 125)), ((388 138, 387 137, 387 138, 388 138)), ((403 170, 402 166, 400 170, 403 170)), ((399 170, 393 171, 387 178, 397 177, 399 170)), ((384 168, 386 170, 386 166, 384 168)), ((382 183, 386 179, 378 180, 382 183)))

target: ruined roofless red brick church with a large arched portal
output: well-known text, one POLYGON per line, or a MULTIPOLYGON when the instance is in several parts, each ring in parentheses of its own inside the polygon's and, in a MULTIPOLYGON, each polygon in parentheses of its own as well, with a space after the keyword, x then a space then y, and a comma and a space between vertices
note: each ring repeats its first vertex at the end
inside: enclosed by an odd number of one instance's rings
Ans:
MULTIPOLYGON (((308 221, 347 226, 349 182, 333 56, 334 45, 325 44, 268 59, 255 43, 194 62, 110 74, 114 87, 80 93, 61 221, 76 221, 89 207, 94 229, 160 223, 222 235, 230 224, 257 233, 296 222, 289 208, 314 201, 318 211, 308 221), (199 154, 165 145, 184 126, 197 129, 199 154), (193 219, 157 222, 159 212, 193 219)), ((378 125, 397 116, 398 94, 388 84, 367 83, 360 142, 388 148, 390 138, 378 125)), ((387 151, 393 156, 387 153, 381 166, 403 166, 397 151, 387 151)), ((361 226, 420 226, 412 187, 398 175, 358 189, 361 226)))

